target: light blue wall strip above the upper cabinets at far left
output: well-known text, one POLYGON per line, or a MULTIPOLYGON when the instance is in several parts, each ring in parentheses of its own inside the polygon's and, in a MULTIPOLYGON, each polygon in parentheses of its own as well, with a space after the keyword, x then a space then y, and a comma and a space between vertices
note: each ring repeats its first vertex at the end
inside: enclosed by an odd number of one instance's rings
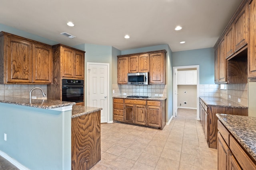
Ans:
POLYGON ((40 37, 40 36, 34 35, 32 33, 21 31, 20 29, 16 29, 14 27, 9 27, 9 26, 4 25, 2 23, 0 23, 0 31, 4 31, 4 32, 7 32, 7 33, 12 33, 14 35, 19 35, 21 37, 32 39, 32 40, 35 40, 35 41, 39 41, 41 43, 45 43, 45 44, 49 44, 49 45, 58 44, 58 42, 56 42, 56 41, 52 41, 50 39, 46 39, 44 37, 40 37))

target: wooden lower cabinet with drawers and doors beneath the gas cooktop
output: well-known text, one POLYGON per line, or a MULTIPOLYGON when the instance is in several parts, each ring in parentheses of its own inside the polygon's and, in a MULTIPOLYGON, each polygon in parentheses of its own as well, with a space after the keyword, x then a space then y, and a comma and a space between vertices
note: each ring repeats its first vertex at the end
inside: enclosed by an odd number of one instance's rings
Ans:
POLYGON ((166 125, 166 100, 113 98, 113 120, 162 130, 166 125))

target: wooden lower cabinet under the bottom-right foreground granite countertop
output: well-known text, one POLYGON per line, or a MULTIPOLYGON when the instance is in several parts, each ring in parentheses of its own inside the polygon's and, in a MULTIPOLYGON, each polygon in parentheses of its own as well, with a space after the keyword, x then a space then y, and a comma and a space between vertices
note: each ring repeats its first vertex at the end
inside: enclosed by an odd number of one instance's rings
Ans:
POLYGON ((255 170, 256 164, 218 120, 218 170, 255 170))

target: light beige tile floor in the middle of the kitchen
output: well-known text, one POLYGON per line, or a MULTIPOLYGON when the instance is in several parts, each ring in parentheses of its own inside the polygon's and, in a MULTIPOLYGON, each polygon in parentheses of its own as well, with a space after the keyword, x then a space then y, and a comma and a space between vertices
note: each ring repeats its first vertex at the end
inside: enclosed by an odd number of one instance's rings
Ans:
POLYGON ((163 130, 104 123, 101 132, 92 170, 217 170, 217 150, 208 148, 194 109, 178 109, 163 130))

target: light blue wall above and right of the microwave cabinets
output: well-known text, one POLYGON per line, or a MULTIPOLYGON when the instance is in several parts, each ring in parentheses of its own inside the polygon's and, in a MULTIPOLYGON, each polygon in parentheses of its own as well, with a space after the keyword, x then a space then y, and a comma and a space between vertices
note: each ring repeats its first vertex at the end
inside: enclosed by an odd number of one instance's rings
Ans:
POLYGON ((133 53, 143 53, 147 51, 157 51, 157 50, 166 50, 166 90, 167 90, 167 101, 166 101, 166 111, 167 117, 166 121, 168 122, 172 117, 172 51, 169 45, 155 45, 151 47, 144 47, 138 49, 130 49, 122 51, 122 55, 133 54, 133 53))

